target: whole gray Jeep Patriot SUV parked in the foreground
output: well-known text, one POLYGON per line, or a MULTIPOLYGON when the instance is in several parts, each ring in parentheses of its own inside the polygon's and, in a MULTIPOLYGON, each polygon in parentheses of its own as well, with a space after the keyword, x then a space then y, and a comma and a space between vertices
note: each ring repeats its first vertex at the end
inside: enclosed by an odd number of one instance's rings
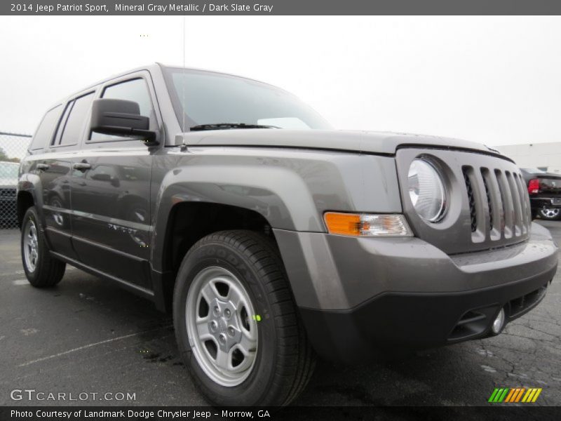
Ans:
POLYGON ((215 405, 289 403, 316 354, 496 335, 557 268, 494 149, 333 131, 273 86, 161 65, 48 109, 17 206, 29 282, 69 264, 173 312, 215 405))

